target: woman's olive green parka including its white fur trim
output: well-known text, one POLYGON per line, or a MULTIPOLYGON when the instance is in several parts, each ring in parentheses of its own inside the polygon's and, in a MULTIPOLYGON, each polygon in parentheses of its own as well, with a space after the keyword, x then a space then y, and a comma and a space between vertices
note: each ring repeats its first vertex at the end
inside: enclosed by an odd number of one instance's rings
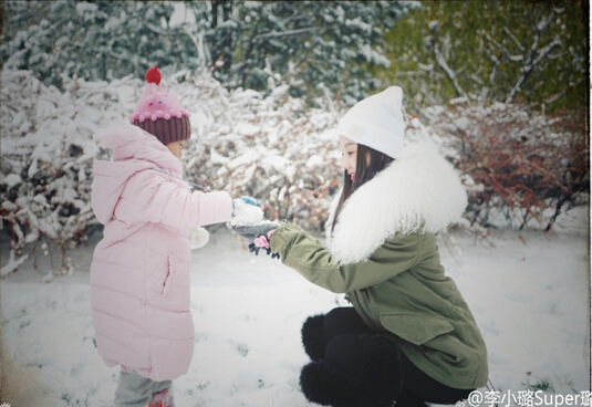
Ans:
POLYGON ((466 195, 432 147, 404 152, 350 197, 328 246, 283 222, 271 237, 271 250, 312 283, 346 293, 366 325, 393 338, 427 375, 454 388, 482 387, 486 345, 455 282, 445 275, 435 236, 455 211, 461 213, 466 195), (433 206, 425 205, 429 199, 433 206), (445 209, 433 209, 436 205, 445 209))

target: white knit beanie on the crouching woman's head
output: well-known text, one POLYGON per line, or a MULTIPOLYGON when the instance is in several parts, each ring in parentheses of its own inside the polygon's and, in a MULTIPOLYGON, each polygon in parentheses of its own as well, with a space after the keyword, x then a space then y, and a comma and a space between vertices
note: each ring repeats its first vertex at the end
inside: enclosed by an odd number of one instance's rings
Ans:
POLYGON ((337 134, 396 158, 405 135, 402 102, 403 90, 398 86, 366 97, 340 119, 337 134))

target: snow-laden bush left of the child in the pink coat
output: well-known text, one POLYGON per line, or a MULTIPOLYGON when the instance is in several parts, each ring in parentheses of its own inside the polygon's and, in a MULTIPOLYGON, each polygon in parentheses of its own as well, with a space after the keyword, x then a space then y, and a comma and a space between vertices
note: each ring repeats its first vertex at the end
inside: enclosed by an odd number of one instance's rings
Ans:
POLYGON ((104 106, 114 97, 104 83, 72 81, 62 93, 29 71, 2 71, 0 213, 11 231, 2 274, 27 259, 27 244, 58 244, 67 270, 66 250, 94 223, 90 187, 100 149, 92 135, 110 119, 104 106))

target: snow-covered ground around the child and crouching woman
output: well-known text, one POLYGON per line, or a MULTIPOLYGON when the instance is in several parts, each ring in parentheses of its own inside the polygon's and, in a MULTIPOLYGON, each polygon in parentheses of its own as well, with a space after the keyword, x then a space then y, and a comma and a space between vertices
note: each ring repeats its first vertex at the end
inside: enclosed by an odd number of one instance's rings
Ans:
MULTIPOLYGON (((501 406, 509 405, 501 397, 525 389, 590 390, 588 209, 572 210, 557 228, 551 234, 497 231, 495 247, 457 231, 460 255, 440 243, 447 273, 488 345, 501 406)), ((103 364, 93 344, 92 246, 71 253, 72 275, 40 282, 50 269, 41 255, 37 270, 29 260, 1 281, 1 373, 10 393, 0 401, 112 405, 117 369, 103 364)), ((252 255, 224 229, 194 251, 191 273, 195 356, 187 375, 175 382, 177 406, 313 406, 299 390, 300 368, 308 362, 300 327, 309 315, 346 305, 343 295, 316 288, 278 260, 252 255)), ((585 404, 578 398, 559 405, 585 404)), ((484 405, 491 405, 487 397, 484 405)))

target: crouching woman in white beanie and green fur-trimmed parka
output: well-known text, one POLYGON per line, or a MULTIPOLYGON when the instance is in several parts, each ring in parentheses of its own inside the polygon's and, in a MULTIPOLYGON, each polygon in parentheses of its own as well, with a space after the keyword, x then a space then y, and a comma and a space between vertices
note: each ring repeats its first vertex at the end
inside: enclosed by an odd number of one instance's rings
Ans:
POLYGON ((392 86, 340 121, 344 179, 326 247, 287 221, 235 228, 353 305, 302 326, 312 362, 300 384, 321 405, 455 404, 487 383, 486 345, 436 243, 466 194, 432 144, 403 147, 402 97, 392 86))

